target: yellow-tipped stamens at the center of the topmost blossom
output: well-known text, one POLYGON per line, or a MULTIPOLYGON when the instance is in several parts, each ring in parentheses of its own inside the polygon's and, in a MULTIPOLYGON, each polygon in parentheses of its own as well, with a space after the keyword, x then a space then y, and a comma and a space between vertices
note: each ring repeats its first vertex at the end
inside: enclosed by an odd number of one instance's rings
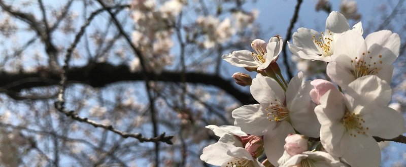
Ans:
POLYGON ((328 33, 321 32, 321 36, 316 38, 316 35, 312 36, 312 40, 316 48, 321 53, 320 56, 327 57, 333 54, 333 34, 331 31, 328 33))

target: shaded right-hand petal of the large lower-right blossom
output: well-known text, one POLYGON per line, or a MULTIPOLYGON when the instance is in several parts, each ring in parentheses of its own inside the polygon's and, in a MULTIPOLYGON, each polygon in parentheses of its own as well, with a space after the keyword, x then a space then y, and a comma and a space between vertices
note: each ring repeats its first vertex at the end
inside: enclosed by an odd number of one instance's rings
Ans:
POLYGON ((365 120, 364 128, 368 128, 365 132, 371 136, 392 139, 406 132, 402 114, 392 108, 371 103, 359 114, 365 120))

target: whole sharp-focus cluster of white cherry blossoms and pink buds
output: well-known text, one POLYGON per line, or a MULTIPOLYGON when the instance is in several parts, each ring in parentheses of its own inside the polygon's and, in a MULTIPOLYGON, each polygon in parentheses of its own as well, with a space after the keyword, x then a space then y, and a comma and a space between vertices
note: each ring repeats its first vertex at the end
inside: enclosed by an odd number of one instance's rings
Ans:
POLYGON ((221 166, 379 166, 374 137, 406 132, 402 115, 388 106, 400 37, 389 30, 362 34, 361 22, 351 28, 343 14, 331 12, 324 32, 299 28, 287 42, 293 55, 326 62, 330 81, 298 72, 287 82, 277 63, 279 35, 253 40, 253 52, 223 55, 258 73, 233 75, 258 104, 233 110, 234 126, 207 126, 220 139, 200 159, 221 166))

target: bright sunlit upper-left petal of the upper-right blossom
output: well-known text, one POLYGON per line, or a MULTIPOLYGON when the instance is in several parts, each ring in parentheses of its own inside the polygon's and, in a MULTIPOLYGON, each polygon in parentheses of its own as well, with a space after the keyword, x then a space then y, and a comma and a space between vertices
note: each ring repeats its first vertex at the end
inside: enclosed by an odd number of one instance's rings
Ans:
POLYGON ((356 31, 344 32, 334 44, 334 55, 347 55, 350 59, 355 60, 356 57, 359 59, 362 53, 367 53, 366 44, 362 35, 356 31))

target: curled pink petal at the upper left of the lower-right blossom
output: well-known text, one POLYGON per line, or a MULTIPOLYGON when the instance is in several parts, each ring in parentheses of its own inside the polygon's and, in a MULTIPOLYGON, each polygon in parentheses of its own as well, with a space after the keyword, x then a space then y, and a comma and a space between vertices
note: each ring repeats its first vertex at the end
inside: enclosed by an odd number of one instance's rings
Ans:
POLYGON ((324 79, 315 79, 310 82, 310 84, 314 87, 310 91, 310 97, 312 100, 319 105, 320 98, 329 90, 336 89, 335 86, 328 80, 324 79))

